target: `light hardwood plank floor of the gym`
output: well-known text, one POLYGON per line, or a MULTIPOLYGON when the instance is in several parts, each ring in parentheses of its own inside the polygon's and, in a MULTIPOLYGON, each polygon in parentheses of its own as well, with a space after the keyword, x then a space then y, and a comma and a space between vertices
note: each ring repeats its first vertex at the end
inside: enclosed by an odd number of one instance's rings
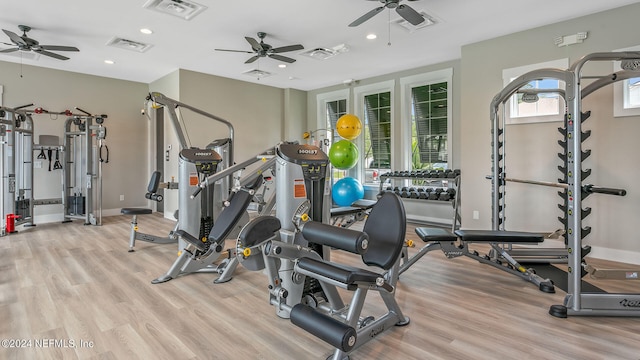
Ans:
MULTIPOLYGON (((0 348, 0 359, 324 359, 331 353, 275 315, 261 272, 239 267, 226 284, 198 274, 152 285, 177 246, 137 242, 128 253, 129 220, 43 224, 0 237, 0 339, 32 340, 31 347, 0 348), (61 346, 70 341, 74 347, 61 346)), ((173 223, 151 215, 139 225, 165 235, 173 223)), ((419 240, 412 226, 407 234, 419 240)), ((349 255, 332 256, 357 264, 349 255)), ((640 292, 640 281, 593 283, 640 292)), ((411 323, 365 344, 352 359, 640 359, 640 318, 548 315, 563 297, 432 252, 397 288, 411 323)), ((363 314, 382 308, 377 294, 368 300, 363 314)))

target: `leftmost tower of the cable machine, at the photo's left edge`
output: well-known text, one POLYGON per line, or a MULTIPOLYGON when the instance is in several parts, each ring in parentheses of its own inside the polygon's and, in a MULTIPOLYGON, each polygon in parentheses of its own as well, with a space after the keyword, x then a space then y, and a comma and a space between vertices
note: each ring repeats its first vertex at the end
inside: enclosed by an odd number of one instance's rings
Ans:
POLYGON ((0 106, 0 236, 6 235, 8 214, 19 216, 16 226, 33 224, 33 148, 31 114, 0 106))

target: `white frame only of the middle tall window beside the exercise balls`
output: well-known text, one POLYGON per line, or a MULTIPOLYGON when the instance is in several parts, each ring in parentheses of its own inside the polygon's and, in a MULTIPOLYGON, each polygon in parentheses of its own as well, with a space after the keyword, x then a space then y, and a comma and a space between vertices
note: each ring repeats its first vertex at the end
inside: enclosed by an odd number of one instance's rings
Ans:
MULTIPOLYGON (((354 109, 353 112, 357 117, 362 121, 363 131, 364 129, 364 97, 367 95, 379 94, 383 92, 389 92, 391 94, 391 168, 395 167, 395 156, 393 154, 393 150, 395 147, 395 131, 396 131, 396 122, 394 116, 394 104, 395 104, 395 80, 382 81, 375 84, 362 85, 355 87, 353 89, 353 99, 354 99, 354 109)), ((365 183, 365 170, 364 170, 364 155, 366 153, 366 149, 364 148, 364 134, 358 136, 356 139, 356 145, 358 146, 358 150, 360 150, 360 159, 358 160, 358 164, 356 166, 356 173, 358 179, 362 179, 362 185, 378 185, 378 183, 365 183)))

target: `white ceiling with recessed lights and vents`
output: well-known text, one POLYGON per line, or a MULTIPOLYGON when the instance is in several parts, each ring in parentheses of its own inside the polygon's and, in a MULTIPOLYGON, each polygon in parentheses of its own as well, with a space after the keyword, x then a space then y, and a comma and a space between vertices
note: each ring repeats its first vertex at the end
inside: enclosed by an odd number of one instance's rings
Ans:
MULTIPOLYGON (((384 10, 358 27, 347 25, 381 5, 366 0, 195 0, 207 9, 186 21, 143 8, 147 0, 20 0, 3 1, 0 28, 19 35, 19 24, 31 26, 28 36, 44 45, 75 46, 61 61, 46 56, 0 53, 0 61, 150 83, 176 69, 187 69, 265 85, 313 90, 347 79, 376 75, 460 58, 461 46, 623 5, 632 0, 420 0, 402 1, 433 16, 438 24, 413 33, 393 22, 384 10), (154 31, 140 33, 140 28, 154 31), (283 53, 297 61, 278 68, 279 61, 261 58, 244 64, 251 54, 218 52, 215 48, 250 50, 245 36, 268 34, 273 47, 302 44, 305 50, 283 53), (376 33, 376 40, 365 36, 376 33), (151 44, 144 53, 106 46, 114 36, 151 44), (388 42, 391 45, 388 45, 388 42), (346 44, 348 52, 327 60, 299 53, 346 44), (115 61, 107 65, 104 60, 115 61), (259 69, 273 75, 254 79, 242 74, 259 69)), ((576 29, 589 31, 590 29, 576 29)), ((569 34, 557 34, 569 35, 569 34)), ((548 39, 553 45, 553 39, 548 39)), ((0 42, 9 42, 0 33, 0 42)), ((0 44, 0 48, 7 48, 0 44)), ((505 49, 508 50, 508 49, 505 49)), ((505 56, 505 53, 496 54, 505 56)), ((24 74, 28 76, 27 73, 24 74)), ((2 74, 9 76, 9 74, 2 74)), ((18 76, 18 74, 16 74, 18 76)), ((1 78, 0 78, 1 81, 1 78)))

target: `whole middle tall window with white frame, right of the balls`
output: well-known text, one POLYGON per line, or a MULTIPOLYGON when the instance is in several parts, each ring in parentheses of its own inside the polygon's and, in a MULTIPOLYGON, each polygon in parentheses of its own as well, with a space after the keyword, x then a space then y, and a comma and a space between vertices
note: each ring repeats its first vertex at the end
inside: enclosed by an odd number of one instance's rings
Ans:
POLYGON ((358 178, 376 184, 379 175, 393 166, 393 87, 395 81, 354 88, 355 115, 362 121, 362 135, 355 141, 360 150, 358 178))

